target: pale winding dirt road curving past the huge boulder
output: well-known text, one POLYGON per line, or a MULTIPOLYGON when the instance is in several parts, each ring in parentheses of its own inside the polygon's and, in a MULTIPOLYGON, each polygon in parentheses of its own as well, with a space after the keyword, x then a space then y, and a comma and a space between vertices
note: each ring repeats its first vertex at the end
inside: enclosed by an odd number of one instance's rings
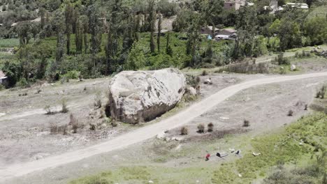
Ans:
POLYGON ((154 137, 165 130, 177 128, 181 125, 189 123, 192 119, 196 118, 197 116, 200 116, 204 112, 207 112, 208 110, 212 109, 212 107, 215 107, 220 102, 226 100, 232 95, 235 95, 235 93, 238 93, 243 89, 262 84, 286 82, 312 77, 327 77, 327 72, 312 73, 307 75, 270 77, 265 79, 256 79, 249 82, 236 84, 234 86, 229 86, 226 89, 218 91, 214 95, 205 98, 201 102, 191 105, 191 107, 185 109, 179 114, 176 114, 175 116, 171 116, 170 118, 167 118, 158 123, 154 123, 152 125, 147 125, 144 128, 139 128, 138 130, 126 133, 125 135, 116 137, 115 139, 111 139, 101 144, 96 144, 94 146, 83 148, 78 151, 72 151, 70 153, 56 155, 53 157, 45 158, 43 160, 36 160, 33 162, 26 162, 22 164, 13 164, 5 169, 0 169, 0 181, 6 181, 6 179, 22 176, 24 174, 29 174, 34 171, 41 171, 43 169, 48 169, 51 167, 58 167, 60 165, 68 164, 70 162, 76 162, 78 160, 82 160, 83 158, 91 157, 93 155, 114 151, 129 146, 131 144, 136 144, 140 141, 145 141, 146 139, 150 139, 151 137, 154 137))

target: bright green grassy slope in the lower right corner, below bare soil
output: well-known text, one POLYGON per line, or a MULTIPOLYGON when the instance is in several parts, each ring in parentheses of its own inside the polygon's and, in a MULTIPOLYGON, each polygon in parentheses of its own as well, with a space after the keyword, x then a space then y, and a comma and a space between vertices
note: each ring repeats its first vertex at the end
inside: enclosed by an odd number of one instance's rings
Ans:
POLYGON ((309 160, 314 145, 327 146, 327 115, 315 113, 305 118, 300 118, 296 123, 289 125, 282 132, 256 137, 251 146, 254 152, 261 153, 254 157, 252 153, 246 153, 243 158, 232 164, 224 165, 215 171, 213 183, 250 183, 256 178, 262 178, 270 167, 277 162, 297 162, 297 160, 309 160), (304 140, 303 146, 299 145, 304 140), (242 178, 236 174, 242 174, 242 178), (221 178, 224 178, 222 180, 221 178))

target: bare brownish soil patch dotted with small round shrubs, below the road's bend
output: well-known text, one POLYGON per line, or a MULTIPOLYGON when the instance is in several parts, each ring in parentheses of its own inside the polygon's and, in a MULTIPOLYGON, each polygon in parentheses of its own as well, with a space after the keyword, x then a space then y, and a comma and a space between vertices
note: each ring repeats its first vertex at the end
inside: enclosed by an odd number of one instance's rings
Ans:
POLYGON ((304 79, 246 89, 186 125, 187 135, 181 135, 181 128, 176 128, 162 137, 194 141, 219 139, 250 130, 255 134, 273 130, 306 114, 305 105, 310 105, 321 84, 324 84, 322 79, 304 79), (290 110, 292 116, 289 116, 290 110), (245 121, 249 125, 245 125, 245 121), (208 131, 210 123, 213 132, 208 131), (204 126, 203 133, 198 132, 198 125, 204 126))

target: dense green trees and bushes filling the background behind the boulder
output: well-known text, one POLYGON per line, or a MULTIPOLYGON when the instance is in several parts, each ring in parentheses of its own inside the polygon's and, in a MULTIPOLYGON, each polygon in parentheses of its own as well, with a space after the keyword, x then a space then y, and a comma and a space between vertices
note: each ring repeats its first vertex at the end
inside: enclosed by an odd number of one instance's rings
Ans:
POLYGON ((6 5, 0 13, 0 38, 7 38, 0 47, 15 47, 15 57, 1 56, 1 70, 15 75, 10 86, 23 78, 57 80, 71 70, 89 78, 170 66, 212 68, 327 41, 327 17, 321 13, 326 6, 317 0, 307 0, 308 11, 285 8, 276 14, 263 8, 268 1, 236 11, 225 10, 222 0, 0 3, 6 5), (173 15, 173 31, 161 33, 161 23, 173 15), (201 35, 206 26, 233 27, 238 39, 208 40, 201 35))

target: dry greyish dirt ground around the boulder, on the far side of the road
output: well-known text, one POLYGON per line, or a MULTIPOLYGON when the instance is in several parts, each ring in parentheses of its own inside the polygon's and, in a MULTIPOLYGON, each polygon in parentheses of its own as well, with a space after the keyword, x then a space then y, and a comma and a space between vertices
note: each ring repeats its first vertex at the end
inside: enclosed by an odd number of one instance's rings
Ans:
MULTIPOLYGON (((259 77, 265 76, 233 74, 211 76, 214 84, 210 86, 202 84, 201 97, 208 97, 227 86, 259 77)), ((209 76, 202 78, 204 80, 209 76)), ((37 93, 39 85, 29 89, 1 91, 0 113, 5 115, 0 116, 0 169, 9 164, 38 160, 91 146, 142 126, 118 123, 117 127, 112 127, 105 118, 99 118, 100 110, 94 110, 94 98, 98 91, 102 91, 102 102, 105 104, 107 99, 104 91, 108 91, 108 85, 109 79, 91 79, 65 84, 43 84, 40 93, 37 93), (23 93, 27 95, 20 95, 23 93), (59 112, 62 98, 67 100, 68 113, 45 114, 43 108, 46 105, 50 105, 52 111, 59 112), (51 134, 50 127, 67 125, 70 122, 70 114, 73 114, 80 123, 78 132, 73 134, 71 125, 68 125, 67 135, 63 135, 62 132, 51 134), (89 123, 98 124, 96 130, 89 130, 89 123)), ((170 114, 177 112, 175 109, 175 112, 170 114)))

